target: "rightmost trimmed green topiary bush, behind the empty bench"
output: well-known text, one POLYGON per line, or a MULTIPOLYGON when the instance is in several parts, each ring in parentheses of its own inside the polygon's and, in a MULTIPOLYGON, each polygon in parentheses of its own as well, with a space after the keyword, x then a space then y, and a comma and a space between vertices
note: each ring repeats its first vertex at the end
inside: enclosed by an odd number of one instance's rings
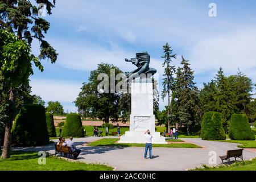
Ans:
POLYGON ((245 114, 232 114, 229 126, 229 138, 232 140, 255 140, 245 114))

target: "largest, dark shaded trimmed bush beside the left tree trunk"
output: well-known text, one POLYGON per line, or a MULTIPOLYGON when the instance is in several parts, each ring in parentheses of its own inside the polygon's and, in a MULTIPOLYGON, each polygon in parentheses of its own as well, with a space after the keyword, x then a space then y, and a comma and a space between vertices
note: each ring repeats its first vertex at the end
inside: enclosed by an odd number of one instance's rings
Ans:
POLYGON ((24 105, 16 115, 12 142, 18 146, 42 146, 49 143, 46 111, 42 105, 24 105))

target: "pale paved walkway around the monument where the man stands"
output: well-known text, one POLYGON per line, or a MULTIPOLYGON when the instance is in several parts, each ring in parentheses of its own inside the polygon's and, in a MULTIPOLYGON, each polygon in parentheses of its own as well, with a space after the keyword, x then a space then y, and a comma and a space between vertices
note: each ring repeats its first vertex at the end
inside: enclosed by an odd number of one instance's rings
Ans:
MULTIPOLYGON (((113 137, 112 137, 113 138, 113 137)), ((207 164, 209 152, 215 151, 217 154, 217 164, 221 163, 218 158, 225 155, 227 150, 237 148, 236 143, 212 142, 199 138, 184 138, 185 142, 191 142, 203 146, 203 148, 153 148, 152 155, 154 159, 144 159, 143 147, 94 147, 86 146, 85 143, 92 142, 100 138, 86 137, 76 138, 74 142, 81 150, 79 160, 87 163, 104 163, 113 166, 116 170, 186 170, 195 167, 201 167, 201 164, 207 164)), ((57 140, 55 140, 57 141, 57 140)), ((24 151, 48 151, 55 153, 54 144, 43 147, 22 147, 14 148, 24 151)), ((256 158, 256 151, 243 151, 244 160, 256 158)))

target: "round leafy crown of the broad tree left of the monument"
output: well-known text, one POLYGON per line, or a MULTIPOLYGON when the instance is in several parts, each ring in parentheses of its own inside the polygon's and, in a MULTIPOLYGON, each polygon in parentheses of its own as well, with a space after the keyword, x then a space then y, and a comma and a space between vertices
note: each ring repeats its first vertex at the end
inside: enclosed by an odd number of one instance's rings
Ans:
MULTIPOLYGON (((110 118, 117 121, 121 112, 126 113, 127 110, 130 110, 129 103, 119 104, 120 94, 113 92, 111 89, 113 87, 112 82, 110 81, 111 69, 114 69, 115 76, 118 73, 122 73, 119 68, 114 67, 112 64, 98 64, 98 68, 90 72, 88 82, 83 83, 81 92, 75 101, 82 117, 100 118, 108 123, 110 118), (106 85, 101 85, 102 80, 98 80, 98 76, 102 73, 105 74, 106 77, 108 76, 105 78, 105 81, 107 82, 106 85), (105 92, 98 92, 100 89, 105 89, 105 92)), ((117 85, 118 82, 119 81, 115 80, 115 85, 117 85)), ((127 98, 129 96, 126 95, 124 97, 127 98)), ((127 102, 129 102, 128 99, 127 102)))

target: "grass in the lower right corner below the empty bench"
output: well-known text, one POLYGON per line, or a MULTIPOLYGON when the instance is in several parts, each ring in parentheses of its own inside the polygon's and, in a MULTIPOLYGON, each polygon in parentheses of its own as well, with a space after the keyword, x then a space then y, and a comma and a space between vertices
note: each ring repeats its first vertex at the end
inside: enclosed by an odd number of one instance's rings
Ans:
POLYGON ((192 171, 256 171, 256 158, 245 162, 236 162, 230 165, 221 164, 218 167, 203 165, 203 168, 195 168, 192 171))

